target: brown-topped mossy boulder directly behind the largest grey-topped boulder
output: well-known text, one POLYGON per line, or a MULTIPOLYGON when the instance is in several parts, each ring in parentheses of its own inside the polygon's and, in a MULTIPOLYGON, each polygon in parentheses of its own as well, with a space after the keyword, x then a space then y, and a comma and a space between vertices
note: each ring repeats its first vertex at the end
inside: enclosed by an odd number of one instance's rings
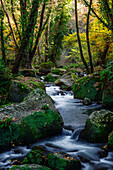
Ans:
POLYGON ((10 102, 21 102, 33 89, 45 89, 45 85, 38 78, 17 77, 11 81, 8 99, 10 102))

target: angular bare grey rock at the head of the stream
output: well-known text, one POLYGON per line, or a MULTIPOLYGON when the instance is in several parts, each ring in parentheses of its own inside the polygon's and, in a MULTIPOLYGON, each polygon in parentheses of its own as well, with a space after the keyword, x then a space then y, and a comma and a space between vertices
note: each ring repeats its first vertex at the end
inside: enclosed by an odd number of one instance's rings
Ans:
POLYGON ((64 74, 61 78, 58 78, 55 85, 60 86, 64 90, 71 90, 73 85, 73 78, 71 72, 64 74))

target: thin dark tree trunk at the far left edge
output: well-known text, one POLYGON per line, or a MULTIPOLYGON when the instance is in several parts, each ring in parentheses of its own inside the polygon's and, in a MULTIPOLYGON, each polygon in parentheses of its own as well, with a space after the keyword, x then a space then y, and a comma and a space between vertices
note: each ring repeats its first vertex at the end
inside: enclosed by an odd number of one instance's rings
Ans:
POLYGON ((3 22, 4 20, 4 12, 3 10, 1 9, 1 50, 2 50, 2 58, 3 58, 3 61, 5 63, 5 66, 6 66, 6 55, 5 55, 5 46, 4 46, 4 32, 3 32, 3 22))

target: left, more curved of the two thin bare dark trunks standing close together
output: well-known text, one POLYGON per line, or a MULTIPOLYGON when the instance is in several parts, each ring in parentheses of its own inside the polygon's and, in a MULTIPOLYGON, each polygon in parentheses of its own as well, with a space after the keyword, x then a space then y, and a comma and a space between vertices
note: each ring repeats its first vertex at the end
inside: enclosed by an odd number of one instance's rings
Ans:
POLYGON ((89 74, 89 67, 85 61, 85 58, 83 56, 83 51, 82 51, 82 45, 81 45, 81 40, 79 36, 79 26, 78 26, 78 14, 77 14, 77 0, 75 0, 75 20, 76 20, 76 30, 77 30, 77 39, 78 39, 78 45, 79 45, 79 50, 80 50, 80 56, 83 64, 85 65, 86 71, 89 74))

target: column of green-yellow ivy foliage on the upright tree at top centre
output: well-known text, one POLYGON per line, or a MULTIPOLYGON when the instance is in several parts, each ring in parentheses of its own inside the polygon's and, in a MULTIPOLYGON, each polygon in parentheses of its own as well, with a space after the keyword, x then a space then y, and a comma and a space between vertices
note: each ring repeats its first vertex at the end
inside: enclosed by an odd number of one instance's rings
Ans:
POLYGON ((67 33, 67 23, 69 21, 69 2, 59 1, 54 9, 55 14, 51 16, 49 33, 49 60, 56 63, 62 51, 62 39, 67 33))

